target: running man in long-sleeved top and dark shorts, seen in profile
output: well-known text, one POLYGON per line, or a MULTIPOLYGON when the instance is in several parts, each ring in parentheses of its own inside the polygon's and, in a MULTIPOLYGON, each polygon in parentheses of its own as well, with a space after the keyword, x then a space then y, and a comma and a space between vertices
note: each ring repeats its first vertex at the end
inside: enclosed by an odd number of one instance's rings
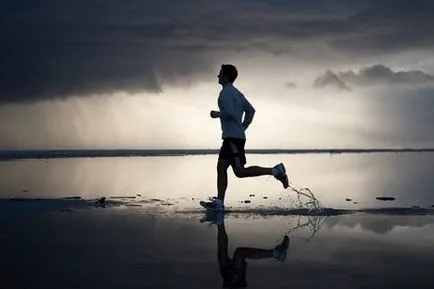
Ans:
POLYGON ((228 185, 227 169, 229 166, 232 166, 232 170, 238 178, 272 175, 282 183, 283 188, 288 188, 288 176, 282 163, 271 168, 245 167, 245 131, 252 123, 255 109, 233 85, 237 77, 238 71, 234 65, 223 64, 221 66, 218 74, 218 82, 222 85, 218 97, 220 111, 212 110, 210 112, 212 118, 220 118, 223 139, 217 163, 217 198, 212 202, 202 202, 206 208, 212 210, 224 210, 225 208, 224 200, 228 185), (243 114, 244 119, 242 119, 243 114))

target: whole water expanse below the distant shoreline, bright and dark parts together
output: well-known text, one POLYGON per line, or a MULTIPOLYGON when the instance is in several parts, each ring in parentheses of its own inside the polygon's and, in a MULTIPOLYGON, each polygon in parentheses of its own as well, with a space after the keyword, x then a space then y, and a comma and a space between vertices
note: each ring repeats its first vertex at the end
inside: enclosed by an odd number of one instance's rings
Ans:
POLYGON ((227 214, 206 215, 212 155, 0 162, 0 288, 222 288, 222 232, 229 258, 289 237, 283 262, 245 254, 248 288, 434 287, 434 154, 248 156, 280 161, 322 210, 230 172, 227 214))

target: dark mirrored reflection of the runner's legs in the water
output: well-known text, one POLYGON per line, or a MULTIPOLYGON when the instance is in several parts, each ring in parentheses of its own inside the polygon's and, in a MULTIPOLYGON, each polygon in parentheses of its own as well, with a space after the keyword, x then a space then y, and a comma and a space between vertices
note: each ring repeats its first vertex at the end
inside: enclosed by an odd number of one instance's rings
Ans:
POLYGON ((223 288, 245 288, 246 281, 246 259, 275 258, 283 262, 286 259, 289 238, 284 236, 282 242, 273 249, 258 249, 249 247, 238 247, 235 249, 232 258, 228 255, 228 235, 224 224, 224 214, 217 213, 214 218, 209 216, 207 221, 212 221, 218 227, 217 235, 217 258, 220 266, 220 275, 223 279, 223 288), (221 215, 221 216, 220 216, 221 215))

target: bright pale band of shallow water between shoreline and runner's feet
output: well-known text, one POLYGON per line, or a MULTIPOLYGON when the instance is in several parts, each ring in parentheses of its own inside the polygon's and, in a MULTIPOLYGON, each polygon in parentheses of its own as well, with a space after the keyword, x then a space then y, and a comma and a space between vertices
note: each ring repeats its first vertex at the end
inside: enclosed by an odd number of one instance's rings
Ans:
MULTIPOLYGON (((276 154, 248 155, 247 159, 248 165, 284 162, 291 185, 310 188, 324 207, 434 205, 432 153, 276 154), (379 196, 395 200, 379 201, 379 196)), ((215 155, 0 162, 0 198, 130 196, 195 208, 199 199, 215 195, 215 155)), ((229 171, 226 203, 230 207, 287 208, 296 197, 270 176, 238 179, 229 171), (241 203, 245 200, 251 203, 241 203)))

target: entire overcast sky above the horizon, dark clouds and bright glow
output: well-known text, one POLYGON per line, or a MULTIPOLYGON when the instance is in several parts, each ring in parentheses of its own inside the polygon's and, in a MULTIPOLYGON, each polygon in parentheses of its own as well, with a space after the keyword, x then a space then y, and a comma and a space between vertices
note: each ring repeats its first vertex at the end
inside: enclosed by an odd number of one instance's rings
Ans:
POLYGON ((0 149, 434 146, 429 0, 0 0, 0 149))

